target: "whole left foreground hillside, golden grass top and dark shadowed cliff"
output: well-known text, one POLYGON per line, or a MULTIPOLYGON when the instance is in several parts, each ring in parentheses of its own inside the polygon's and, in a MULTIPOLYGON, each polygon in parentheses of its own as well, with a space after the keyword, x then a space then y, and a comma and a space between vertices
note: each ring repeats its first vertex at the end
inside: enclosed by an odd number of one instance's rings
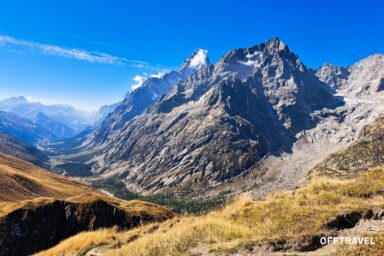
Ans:
POLYGON ((0 154, 0 255, 30 255, 82 231, 130 229, 173 213, 123 201, 27 162, 0 154))

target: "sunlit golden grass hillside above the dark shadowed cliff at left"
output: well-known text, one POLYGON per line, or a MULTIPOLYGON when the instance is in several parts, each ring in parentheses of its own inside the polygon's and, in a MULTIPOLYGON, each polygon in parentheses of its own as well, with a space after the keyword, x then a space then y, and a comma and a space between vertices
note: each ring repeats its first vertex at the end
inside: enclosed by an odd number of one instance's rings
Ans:
POLYGON ((0 217, 19 208, 35 209, 55 200, 81 204, 103 200, 129 214, 158 216, 158 219, 173 216, 171 211, 159 205, 108 196, 81 181, 0 154, 0 217))

